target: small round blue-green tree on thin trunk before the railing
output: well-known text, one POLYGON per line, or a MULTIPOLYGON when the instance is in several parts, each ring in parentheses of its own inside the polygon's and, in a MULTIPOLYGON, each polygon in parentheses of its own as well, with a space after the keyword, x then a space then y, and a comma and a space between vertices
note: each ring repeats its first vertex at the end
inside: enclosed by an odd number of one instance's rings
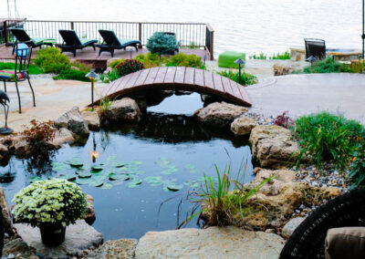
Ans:
POLYGON ((166 53, 173 53, 177 48, 176 36, 172 34, 166 34, 163 32, 155 32, 147 42, 147 49, 151 51, 152 54, 156 53, 160 56, 166 53))

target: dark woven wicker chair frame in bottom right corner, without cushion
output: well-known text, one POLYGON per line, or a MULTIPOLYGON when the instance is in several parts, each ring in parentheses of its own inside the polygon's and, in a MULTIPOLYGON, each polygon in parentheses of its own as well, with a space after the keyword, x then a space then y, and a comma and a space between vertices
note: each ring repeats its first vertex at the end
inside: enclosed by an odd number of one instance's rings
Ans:
POLYGON ((324 258, 329 229, 365 226, 365 188, 347 192, 319 206, 289 237, 281 259, 324 258))

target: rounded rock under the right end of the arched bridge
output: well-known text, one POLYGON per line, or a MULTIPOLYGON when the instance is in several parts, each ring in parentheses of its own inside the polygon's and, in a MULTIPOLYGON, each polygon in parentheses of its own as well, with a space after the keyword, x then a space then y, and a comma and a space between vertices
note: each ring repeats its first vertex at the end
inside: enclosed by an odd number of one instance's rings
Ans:
POLYGON ((245 107, 222 101, 211 103, 207 107, 196 110, 194 116, 209 126, 225 128, 246 111, 245 107))

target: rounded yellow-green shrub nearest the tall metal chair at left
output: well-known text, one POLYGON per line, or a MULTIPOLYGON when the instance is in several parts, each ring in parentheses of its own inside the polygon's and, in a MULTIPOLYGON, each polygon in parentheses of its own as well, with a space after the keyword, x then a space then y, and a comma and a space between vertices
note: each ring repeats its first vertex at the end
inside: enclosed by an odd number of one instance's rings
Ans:
POLYGON ((69 69, 71 64, 68 57, 61 53, 57 47, 46 47, 36 52, 36 66, 41 67, 45 73, 58 74, 61 70, 69 69))

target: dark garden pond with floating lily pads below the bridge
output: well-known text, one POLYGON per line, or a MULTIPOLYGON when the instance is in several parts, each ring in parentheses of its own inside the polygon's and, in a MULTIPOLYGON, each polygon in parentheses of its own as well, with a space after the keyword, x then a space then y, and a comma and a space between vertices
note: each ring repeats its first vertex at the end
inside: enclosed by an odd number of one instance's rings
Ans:
MULTIPOLYGON (((85 145, 66 145, 45 164, 13 157, 0 168, 1 186, 10 202, 38 177, 76 178, 84 192, 94 197, 97 219, 93 226, 105 240, 174 229, 193 206, 185 199, 188 191, 199 188, 203 174, 216 176, 214 164, 220 171, 232 164, 236 172, 244 159, 248 163, 245 181, 253 178, 247 140, 202 126, 192 116, 200 107, 197 94, 172 96, 151 108, 140 123, 91 132, 85 145), (95 161, 91 150, 99 152, 95 161), (77 162, 84 170, 77 169, 77 162), (159 213, 161 203, 174 196, 159 213)), ((196 220, 189 227, 197 227, 196 220)))

